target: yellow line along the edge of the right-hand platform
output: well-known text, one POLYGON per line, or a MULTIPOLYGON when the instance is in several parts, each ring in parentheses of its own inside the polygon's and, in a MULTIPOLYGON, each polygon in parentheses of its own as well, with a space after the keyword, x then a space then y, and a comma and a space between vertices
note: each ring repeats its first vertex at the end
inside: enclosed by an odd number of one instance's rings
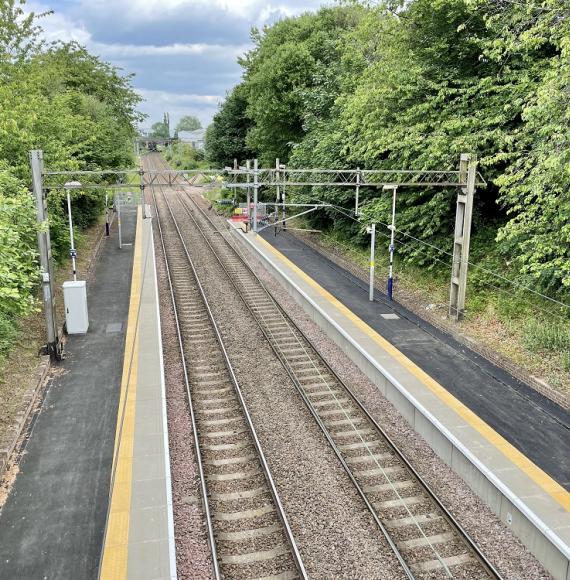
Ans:
POLYGON ((514 463, 530 479, 534 481, 545 493, 550 495, 566 511, 570 511, 570 493, 566 491, 558 482, 545 473, 540 467, 533 463, 526 455, 521 453, 516 447, 511 445, 502 435, 499 435, 485 421, 478 417, 471 409, 454 397, 445 387, 440 385, 435 379, 413 363, 405 354, 399 351, 393 344, 388 342, 383 336, 380 336, 373 328, 368 326, 361 318, 356 316, 342 302, 337 300, 328 290, 325 290, 320 284, 308 276, 303 270, 296 266, 289 258, 284 256, 279 250, 274 248, 269 242, 262 237, 257 236, 257 241, 262 244, 281 262, 286 264, 307 284, 316 290, 332 306, 339 310, 360 330, 365 332, 380 348, 395 358, 403 367, 412 373, 421 383, 423 383, 432 393, 434 393, 448 407, 453 409, 463 420, 480 433, 489 443, 500 451, 507 459, 514 463))

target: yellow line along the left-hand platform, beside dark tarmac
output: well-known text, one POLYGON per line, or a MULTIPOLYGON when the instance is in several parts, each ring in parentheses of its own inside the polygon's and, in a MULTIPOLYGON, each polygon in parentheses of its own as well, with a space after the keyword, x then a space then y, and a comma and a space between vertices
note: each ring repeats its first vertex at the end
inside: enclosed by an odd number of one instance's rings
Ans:
POLYGON ((111 505, 105 533, 105 545, 100 580, 122 580, 127 577, 129 516, 132 493, 133 448, 135 439, 135 410, 138 373, 138 313, 141 300, 142 268, 142 210, 137 211, 137 226, 129 298, 129 314, 125 337, 125 355, 119 411, 115 430, 113 465, 115 476, 111 490, 111 505))

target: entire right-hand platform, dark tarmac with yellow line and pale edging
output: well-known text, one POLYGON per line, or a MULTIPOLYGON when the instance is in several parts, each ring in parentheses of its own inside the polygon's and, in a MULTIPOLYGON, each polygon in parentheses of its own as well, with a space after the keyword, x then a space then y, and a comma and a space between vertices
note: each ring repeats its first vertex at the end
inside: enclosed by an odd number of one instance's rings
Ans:
POLYGON ((570 418, 287 233, 234 234, 553 577, 570 580, 570 418))

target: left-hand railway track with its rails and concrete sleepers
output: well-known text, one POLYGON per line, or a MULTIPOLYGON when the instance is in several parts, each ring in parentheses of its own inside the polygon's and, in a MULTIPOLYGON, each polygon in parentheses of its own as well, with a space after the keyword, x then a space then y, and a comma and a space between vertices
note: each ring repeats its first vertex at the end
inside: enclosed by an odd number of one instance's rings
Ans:
POLYGON ((152 188, 197 450, 215 578, 306 578, 204 287, 161 186, 152 188))

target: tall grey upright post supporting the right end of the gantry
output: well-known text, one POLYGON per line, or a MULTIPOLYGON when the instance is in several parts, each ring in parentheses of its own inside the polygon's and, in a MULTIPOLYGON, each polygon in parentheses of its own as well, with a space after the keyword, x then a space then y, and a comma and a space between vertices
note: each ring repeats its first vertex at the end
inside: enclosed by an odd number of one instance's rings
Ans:
POLYGON ((461 154, 459 182, 453 238, 453 263, 451 265, 451 288, 449 293, 449 316, 459 321, 465 313, 471 221, 477 176, 477 159, 467 153, 461 154))

